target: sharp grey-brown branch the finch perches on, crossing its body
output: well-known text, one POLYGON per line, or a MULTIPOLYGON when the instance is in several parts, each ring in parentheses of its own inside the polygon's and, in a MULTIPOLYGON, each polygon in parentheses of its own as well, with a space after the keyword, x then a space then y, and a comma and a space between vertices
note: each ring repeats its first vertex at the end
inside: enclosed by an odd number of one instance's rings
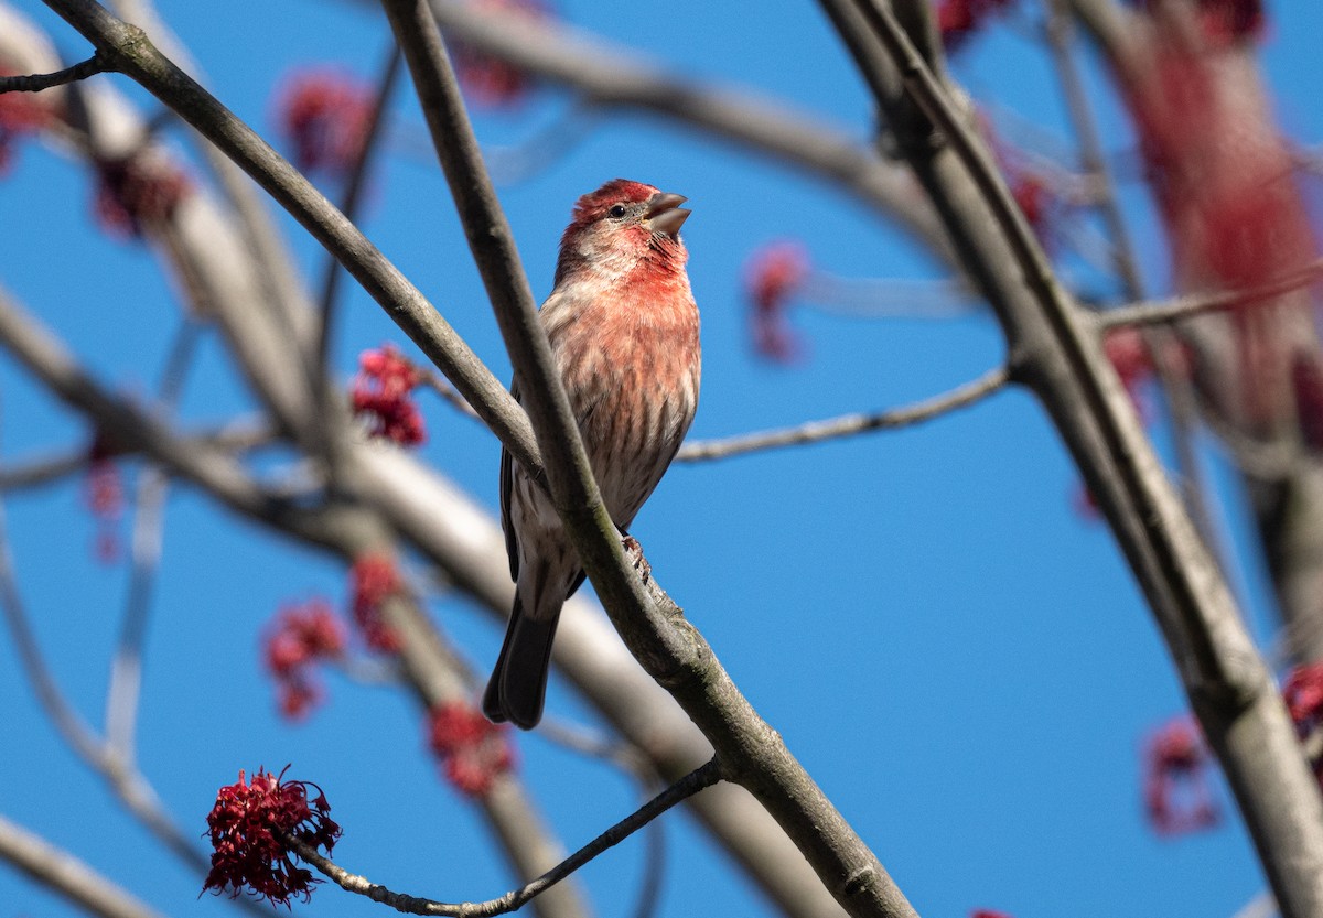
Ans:
POLYGON ((730 779, 767 807, 847 911, 913 914, 877 857, 740 694, 697 630, 684 622, 656 581, 644 587, 626 561, 435 22, 425 0, 385 0, 384 5, 405 50, 511 360, 524 381, 529 419, 546 455, 552 503, 613 624, 712 741, 730 779))

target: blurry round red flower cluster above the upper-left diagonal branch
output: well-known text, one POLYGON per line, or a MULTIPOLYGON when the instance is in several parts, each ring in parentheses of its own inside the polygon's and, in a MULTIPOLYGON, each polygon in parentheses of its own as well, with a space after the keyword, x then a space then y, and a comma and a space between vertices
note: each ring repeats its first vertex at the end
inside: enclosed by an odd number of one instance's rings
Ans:
POLYGON ((363 152, 373 104, 372 90, 343 73, 312 69, 291 77, 277 120, 294 142, 294 164, 348 173, 363 152))

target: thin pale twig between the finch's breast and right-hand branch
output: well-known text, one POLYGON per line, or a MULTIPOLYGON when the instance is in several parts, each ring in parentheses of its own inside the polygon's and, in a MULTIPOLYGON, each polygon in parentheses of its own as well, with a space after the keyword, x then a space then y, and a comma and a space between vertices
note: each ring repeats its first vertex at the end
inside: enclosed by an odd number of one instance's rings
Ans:
POLYGON ((827 421, 810 421, 796 427, 782 430, 766 430, 757 434, 742 434, 714 440, 699 440, 687 443, 676 455, 676 462, 704 462, 708 459, 729 459, 730 456, 755 452, 758 450, 773 450, 782 446, 803 446, 806 443, 820 443, 823 440, 867 434, 876 430, 894 430, 910 425, 931 421, 955 409, 967 407, 979 402, 995 392, 1003 389, 1009 381, 1009 372, 1005 366, 998 366, 980 376, 972 382, 966 382, 958 389, 935 396, 934 398, 873 414, 845 414, 827 421))

